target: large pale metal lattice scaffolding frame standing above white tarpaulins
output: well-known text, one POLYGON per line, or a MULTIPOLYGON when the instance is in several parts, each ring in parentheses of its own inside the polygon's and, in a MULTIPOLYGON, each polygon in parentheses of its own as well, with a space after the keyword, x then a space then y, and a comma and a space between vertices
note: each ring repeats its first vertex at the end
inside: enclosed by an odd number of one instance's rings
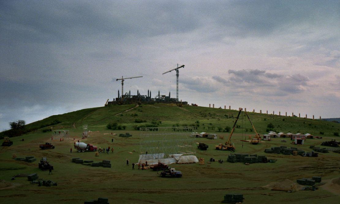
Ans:
POLYGON ((196 127, 148 127, 140 128, 140 153, 195 155, 196 127))

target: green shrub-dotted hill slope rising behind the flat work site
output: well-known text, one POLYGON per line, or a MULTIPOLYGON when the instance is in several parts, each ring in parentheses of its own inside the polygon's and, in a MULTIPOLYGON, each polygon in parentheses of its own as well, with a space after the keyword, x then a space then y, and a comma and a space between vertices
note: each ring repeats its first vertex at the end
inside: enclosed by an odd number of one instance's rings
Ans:
MULTIPOLYGON (((233 127, 237 110, 197 107, 175 104, 154 105, 110 105, 53 115, 43 120, 25 126, 28 132, 46 132, 53 130, 81 130, 88 125, 88 130, 138 130, 139 127, 173 127, 196 126, 197 132, 229 132, 233 127)), ((326 120, 310 119, 292 116, 279 116, 249 112, 254 127, 259 134, 268 131, 310 133, 316 136, 334 136, 339 134, 340 124, 326 120)), ((340 118, 328 118, 331 120, 340 118)), ((254 134, 253 128, 242 112, 237 122, 235 132, 247 135, 254 134)), ((9 131, 0 133, 0 138, 8 135, 9 131)))

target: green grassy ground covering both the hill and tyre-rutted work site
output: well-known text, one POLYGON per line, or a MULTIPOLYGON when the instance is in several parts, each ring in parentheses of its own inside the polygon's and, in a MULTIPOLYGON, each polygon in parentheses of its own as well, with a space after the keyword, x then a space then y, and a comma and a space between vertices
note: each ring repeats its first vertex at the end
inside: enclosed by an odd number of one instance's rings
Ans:
MULTIPOLYGON (((319 153, 318 157, 302 157, 283 154, 266 154, 264 149, 273 146, 296 147, 280 142, 282 138, 272 138, 259 145, 251 145, 240 140, 249 135, 254 135, 244 114, 237 123, 232 137, 236 153, 249 153, 266 155, 268 159, 277 159, 276 163, 256 163, 244 165, 243 163, 226 162, 229 151, 218 151, 215 145, 224 143, 229 132, 219 132, 218 128, 232 127, 236 110, 212 109, 204 107, 157 104, 142 105, 124 112, 135 105, 108 106, 84 109, 62 115, 55 115, 44 120, 28 124, 28 128, 36 128, 34 132, 19 137, 11 138, 14 144, 10 147, 0 147, 0 180, 11 182, 13 186, 0 187, 1 203, 84 203, 99 197, 108 198, 110 203, 220 203, 227 193, 241 193, 243 203, 338 203, 340 199, 340 154, 329 152, 319 153), (121 113, 122 112, 122 113, 121 113), (119 114, 121 113, 121 114, 119 114), (117 115, 118 114, 118 115, 117 115), (142 123, 136 123, 139 119, 142 123), (46 126, 58 120, 60 123, 46 126), (126 126, 125 130, 107 129, 108 123, 116 122, 126 126), (198 122, 198 123, 197 123, 198 122), (82 125, 87 124, 89 137, 82 140, 82 125), (207 151, 197 149, 197 157, 205 159, 204 165, 197 164, 172 164, 176 170, 182 171, 182 178, 161 178, 152 170, 132 170, 131 164, 138 161, 139 157, 139 131, 134 126, 153 124, 158 127, 191 126, 199 124, 197 132, 216 133, 224 139, 208 140, 197 138, 196 142, 209 145, 207 151), (41 127, 41 128, 40 128, 41 127), (53 127, 69 130, 69 139, 60 142, 58 136, 51 141, 52 132, 43 130, 53 127), (108 135, 107 133, 117 135, 108 135), (119 133, 129 132, 132 137, 118 137, 119 133), (24 141, 20 140, 24 138, 24 141), (78 153, 73 149, 73 138, 97 147, 113 147, 114 152, 78 153), (114 139, 112 143, 111 140, 114 139), (52 142, 55 149, 41 150, 39 144, 52 142), (134 151, 136 150, 136 151, 134 151), (18 157, 34 156, 37 161, 27 163, 12 159, 12 154, 18 157), (46 156, 54 166, 52 174, 38 169, 38 161, 46 156), (84 160, 110 160, 112 167, 90 167, 72 163, 72 158, 80 157, 84 160), (210 158, 222 159, 218 162, 207 163, 210 158), (126 159, 130 166, 126 166, 126 159), (31 184, 27 178, 11 178, 16 174, 38 173, 40 179, 49 179, 57 182, 57 186, 45 187, 31 184), (272 182, 293 182, 300 178, 321 176, 325 185, 319 186, 316 191, 297 191, 287 193, 272 191, 266 185, 272 182)), ((323 136, 323 139, 307 139, 300 149, 311 151, 310 145, 320 146, 322 141, 328 141, 334 132, 340 132, 338 123, 312 120, 299 117, 285 117, 249 113, 250 118, 261 135, 267 133, 267 125, 274 125, 277 132, 300 132, 323 136), (320 135, 320 132, 323 132, 320 135)), ((2 133, 4 134, 4 133, 2 133)))

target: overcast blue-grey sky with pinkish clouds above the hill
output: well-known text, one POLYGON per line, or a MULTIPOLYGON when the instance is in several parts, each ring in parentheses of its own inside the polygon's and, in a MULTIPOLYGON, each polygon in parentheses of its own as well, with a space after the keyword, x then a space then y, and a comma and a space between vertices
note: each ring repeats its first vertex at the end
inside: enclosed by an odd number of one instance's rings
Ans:
POLYGON ((0 131, 121 90, 340 117, 340 1, 0 0, 0 131))

